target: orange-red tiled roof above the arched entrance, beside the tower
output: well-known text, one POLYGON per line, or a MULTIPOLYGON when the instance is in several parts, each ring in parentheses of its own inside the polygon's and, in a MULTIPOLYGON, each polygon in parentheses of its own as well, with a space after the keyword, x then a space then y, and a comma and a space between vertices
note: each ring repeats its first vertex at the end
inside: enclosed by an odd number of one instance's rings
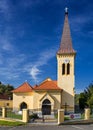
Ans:
POLYGON ((57 86, 57 81, 45 80, 40 85, 34 86, 34 90, 62 90, 57 86))

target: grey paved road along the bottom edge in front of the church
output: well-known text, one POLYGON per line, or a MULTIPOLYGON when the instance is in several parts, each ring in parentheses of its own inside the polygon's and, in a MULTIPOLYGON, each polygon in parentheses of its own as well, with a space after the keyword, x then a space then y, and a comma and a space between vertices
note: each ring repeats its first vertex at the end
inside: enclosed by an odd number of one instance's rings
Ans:
POLYGON ((0 127, 0 130, 93 130, 93 125, 65 125, 65 126, 18 126, 0 127))

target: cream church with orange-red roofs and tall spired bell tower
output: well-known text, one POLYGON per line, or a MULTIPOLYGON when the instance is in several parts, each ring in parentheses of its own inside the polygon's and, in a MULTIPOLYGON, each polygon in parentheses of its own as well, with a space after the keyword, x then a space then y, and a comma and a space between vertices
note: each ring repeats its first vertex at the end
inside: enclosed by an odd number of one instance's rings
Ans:
POLYGON ((58 109, 64 109, 65 113, 74 112, 76 51, 73 49, 67 8, 60 47, 57 50, 57 80, 47 78, 35 86, 24 82, 14 89, 13 111, 27 108, 39 115, 53 115, 58 109))

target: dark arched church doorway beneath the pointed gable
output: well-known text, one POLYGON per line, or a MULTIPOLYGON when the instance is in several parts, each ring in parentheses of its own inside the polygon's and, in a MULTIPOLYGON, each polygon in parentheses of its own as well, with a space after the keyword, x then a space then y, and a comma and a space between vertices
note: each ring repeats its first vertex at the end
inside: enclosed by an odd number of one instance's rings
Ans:
POLYGON ((42 115, 51 115, 51 102, 48 99, 42 103, 42 115))

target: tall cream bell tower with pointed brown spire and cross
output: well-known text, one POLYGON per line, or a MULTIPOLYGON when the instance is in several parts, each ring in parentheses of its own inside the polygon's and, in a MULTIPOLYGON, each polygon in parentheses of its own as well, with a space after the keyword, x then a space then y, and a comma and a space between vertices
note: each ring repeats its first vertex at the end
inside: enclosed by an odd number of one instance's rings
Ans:
POLYGON ((60 48, 57 51, 57 85, 63 90, 61 107, 67 107, 69 112, 74 112, 75 55, 68 21, 68 9, 65 8, 63 33, 60 48))

